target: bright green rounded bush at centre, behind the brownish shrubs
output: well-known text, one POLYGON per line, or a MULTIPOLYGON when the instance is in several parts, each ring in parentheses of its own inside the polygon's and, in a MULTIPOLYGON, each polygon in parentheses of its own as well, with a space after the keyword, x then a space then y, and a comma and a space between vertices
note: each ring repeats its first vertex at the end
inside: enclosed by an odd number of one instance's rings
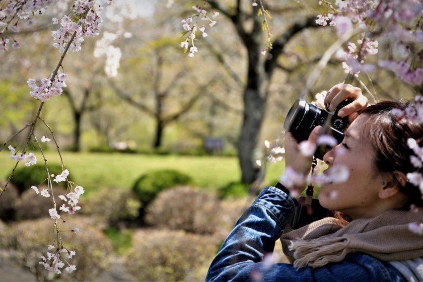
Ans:
POLYGON ((176 170, 157 170, 139 177, 132 186, 132 190, 141 202, 142 212, 145 207, 166 188, 186 185, 192 182, 190 176, 176 170))

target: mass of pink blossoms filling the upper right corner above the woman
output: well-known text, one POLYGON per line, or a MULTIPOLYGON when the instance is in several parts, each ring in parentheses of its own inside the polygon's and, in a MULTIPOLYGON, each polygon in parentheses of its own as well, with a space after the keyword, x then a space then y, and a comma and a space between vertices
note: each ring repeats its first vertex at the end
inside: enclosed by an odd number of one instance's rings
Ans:
POLYGON ((367 54, 377 53, 378 41, 370 37, 379 37, 386 41, 393 56, 389 61, 380 61, 378 65, 391 70, 408 84, 423 83, 423 4, 420 1, 336 0, 336 8, 327 1, 319 2, 322 3, 333 14, 318 15, 317 24, 334 26, 338 36, 352 30, 354 26, 360 26, 366 31, 366 35, 362 35, 362 40, 358 42, 360 49, 349 42, 347 51, 338 52, 337 56, 343 60, 342 66, 346 73, 357 76, 361 70, 370 72, 375 68, 364 64, 364 60, 367 54))

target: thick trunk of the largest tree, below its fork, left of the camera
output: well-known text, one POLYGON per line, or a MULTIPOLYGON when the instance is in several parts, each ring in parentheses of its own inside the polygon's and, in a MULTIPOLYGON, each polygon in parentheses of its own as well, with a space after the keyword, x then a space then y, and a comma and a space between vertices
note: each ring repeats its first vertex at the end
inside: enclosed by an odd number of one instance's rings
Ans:
POLYGON ((259 168, 255 164, 254 150, 264 119, 268 77, 258 47, 248 50, 248 80, 244 90, 244 117, 238 139, 238 158, 241 181, 250 184, 256 180, 259 168))

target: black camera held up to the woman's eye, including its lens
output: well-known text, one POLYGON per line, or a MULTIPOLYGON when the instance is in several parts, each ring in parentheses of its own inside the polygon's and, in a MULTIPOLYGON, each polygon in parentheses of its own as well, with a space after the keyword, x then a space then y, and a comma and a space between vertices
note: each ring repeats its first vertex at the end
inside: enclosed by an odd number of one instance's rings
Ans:
MULTIPOLYGON (((341 143, 343 139, 343 131, 348 123, 348 116, 339 117, 338 111, 344 106, 351 103, 351 99, 342 101, 335 110, 334 114, 327 112, 311 103, 307 104, 304 99, 298 99, 294 102, 284 122, 284 128, 290 131, 300 143, 307 140, 311 131, 317 125, 323 126, 327 118, 330 118, 330 126, 324 134, 335 137, 337 143, 341 143)), ((330 150, 327 146, 319 146, 314 154, 317 159, 323 160, 324 154, 330 150)))

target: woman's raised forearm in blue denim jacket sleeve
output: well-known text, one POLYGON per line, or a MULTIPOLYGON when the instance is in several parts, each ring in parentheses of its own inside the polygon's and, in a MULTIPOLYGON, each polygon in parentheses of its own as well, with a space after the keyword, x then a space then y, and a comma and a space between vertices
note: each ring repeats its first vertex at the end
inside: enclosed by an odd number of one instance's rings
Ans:
POLYGON ((247 208, 208 269, 206 281, 245 279, 272 253, 274 243, 294 212, 293 199, 276 187, 266 187, 247 208), (241 274, 241 277, 239 276, 241 274))

